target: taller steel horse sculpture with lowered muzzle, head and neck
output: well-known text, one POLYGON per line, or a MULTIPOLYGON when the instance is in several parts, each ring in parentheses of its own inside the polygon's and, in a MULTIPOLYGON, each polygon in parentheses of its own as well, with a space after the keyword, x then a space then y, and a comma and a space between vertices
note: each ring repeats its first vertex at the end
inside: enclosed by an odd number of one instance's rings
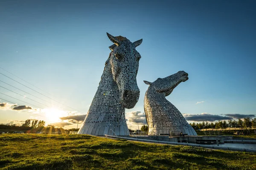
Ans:
POLYGON ((136 76, 141 56, 136 47, 142 39, 131 42, 126 37, 107 35, 114 44, 109 47, 111 53, 79 134, 128 135, 125 108, 134 108, 140 96, 136 76))

